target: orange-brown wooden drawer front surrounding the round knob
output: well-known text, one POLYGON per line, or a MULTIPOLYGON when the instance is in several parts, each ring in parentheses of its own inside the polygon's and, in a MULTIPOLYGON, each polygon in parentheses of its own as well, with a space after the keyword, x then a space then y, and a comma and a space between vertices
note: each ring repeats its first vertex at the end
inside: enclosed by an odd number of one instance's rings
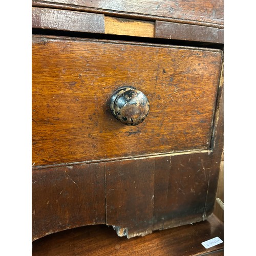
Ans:
POLYGON ((222 51, 33 37, 34 166, 207 149, 222 51), (108 101, 133 86, 150 114, 126 126, 108 101))

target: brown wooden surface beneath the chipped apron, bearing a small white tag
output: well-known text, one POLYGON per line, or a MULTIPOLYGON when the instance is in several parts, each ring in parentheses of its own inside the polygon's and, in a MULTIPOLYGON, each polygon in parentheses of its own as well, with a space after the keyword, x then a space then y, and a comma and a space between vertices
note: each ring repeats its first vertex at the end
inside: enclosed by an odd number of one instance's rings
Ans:
POLYGON ((224 243, 211 248, 201 244, 211 238, 224 241, 223 223, 211 216, 207 221, 126 239, 112 227, 86 226, 51 234, 33 242, 33 256, 71 255, 224 255, 224 243))

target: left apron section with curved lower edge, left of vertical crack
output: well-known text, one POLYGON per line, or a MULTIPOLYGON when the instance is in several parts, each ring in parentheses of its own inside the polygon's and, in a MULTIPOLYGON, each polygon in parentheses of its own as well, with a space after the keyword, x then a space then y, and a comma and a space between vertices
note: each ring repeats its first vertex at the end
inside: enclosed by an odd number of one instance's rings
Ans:
POLYGON ((103 163, 33 170, 32 241, 93 224, 105 224, 103 163))

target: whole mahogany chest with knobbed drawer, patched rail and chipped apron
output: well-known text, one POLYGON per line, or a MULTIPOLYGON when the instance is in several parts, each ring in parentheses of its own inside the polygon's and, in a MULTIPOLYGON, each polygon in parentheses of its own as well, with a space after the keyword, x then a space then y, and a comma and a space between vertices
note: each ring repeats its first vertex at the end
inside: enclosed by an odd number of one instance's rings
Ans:
POLYGON ((32 241, 204 221, 223 151, 223 2, 32 1, 32 241))

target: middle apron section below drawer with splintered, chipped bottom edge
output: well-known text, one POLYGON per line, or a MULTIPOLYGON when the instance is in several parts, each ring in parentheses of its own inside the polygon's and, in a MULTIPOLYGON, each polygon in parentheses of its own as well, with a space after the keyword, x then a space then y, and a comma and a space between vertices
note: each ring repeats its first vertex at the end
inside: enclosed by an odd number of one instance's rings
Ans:
POLYGON ((154 172, 151 158, 106 163, 106 223, 119 236, 152 233, 154 172))

